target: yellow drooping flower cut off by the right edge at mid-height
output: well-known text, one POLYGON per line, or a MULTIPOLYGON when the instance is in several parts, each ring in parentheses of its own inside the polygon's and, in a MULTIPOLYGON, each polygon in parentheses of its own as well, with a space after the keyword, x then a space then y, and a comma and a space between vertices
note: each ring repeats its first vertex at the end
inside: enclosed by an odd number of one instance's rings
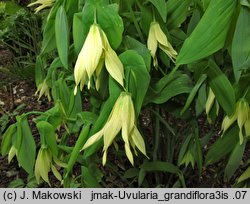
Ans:
POLYGON ((237 120, 239 127, 239 141, 240 144, 243 143, 244 135, 249 136, 250 134, 250 108, 248 102, 241 98, 236 104, 235 112, 232 116, 225 116, 222 121, 221 131, 224 134, 227 129, 237 120), (243 128, 245 129, 245 134, 243 134, 243 128))

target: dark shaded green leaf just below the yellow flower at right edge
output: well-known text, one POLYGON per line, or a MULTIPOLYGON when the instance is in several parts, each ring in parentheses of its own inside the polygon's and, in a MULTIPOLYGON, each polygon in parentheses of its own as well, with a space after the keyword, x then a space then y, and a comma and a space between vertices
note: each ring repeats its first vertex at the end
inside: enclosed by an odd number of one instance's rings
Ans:
POLYGON ((239 128, 234 126, 210 147, 205 159, 206 165, 213 164, 228 155, 234 149, 238 140, 239 128))

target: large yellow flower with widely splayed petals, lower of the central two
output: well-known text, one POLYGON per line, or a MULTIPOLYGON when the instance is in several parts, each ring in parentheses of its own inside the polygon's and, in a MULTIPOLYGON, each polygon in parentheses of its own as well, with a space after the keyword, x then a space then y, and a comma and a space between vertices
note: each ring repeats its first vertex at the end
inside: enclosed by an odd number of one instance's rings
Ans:
POLYGON ((104 127, 87 140, 82 150, 93 145, 103 137, 104 146, 102 163, 105 165, 107 161, 107 150, 114 142, 117 134, 121 131, 126 156, 133 165, 134 159, 130 145, 135 150, 136 155, 137 153, 135 147, 147 156, 144 140, 135 123, 135 111, 132 98, 129 93, 122 92, 117 99, 104 127))

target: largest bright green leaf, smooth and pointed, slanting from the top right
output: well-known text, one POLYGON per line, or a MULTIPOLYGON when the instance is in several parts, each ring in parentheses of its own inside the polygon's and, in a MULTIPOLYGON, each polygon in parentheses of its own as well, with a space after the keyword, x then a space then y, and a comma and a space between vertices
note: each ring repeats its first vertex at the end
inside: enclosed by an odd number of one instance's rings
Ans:
POLYGON ((207 57, 224 46, 236 4, 235 0, 211 0, 200 22, 185 40, 176 59, 177 66, 207 57))

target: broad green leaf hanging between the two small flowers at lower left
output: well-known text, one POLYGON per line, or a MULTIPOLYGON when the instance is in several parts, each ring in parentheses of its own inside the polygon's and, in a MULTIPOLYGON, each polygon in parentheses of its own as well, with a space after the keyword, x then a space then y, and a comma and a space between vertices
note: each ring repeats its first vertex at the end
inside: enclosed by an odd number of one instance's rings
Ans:
POLYGON ((32 174, 36 157, 36 144, 27 118, 22 116, 17 120, 17 137, 21 138, 20 146, 17 148, 17 160, 28 174, 32 174))

